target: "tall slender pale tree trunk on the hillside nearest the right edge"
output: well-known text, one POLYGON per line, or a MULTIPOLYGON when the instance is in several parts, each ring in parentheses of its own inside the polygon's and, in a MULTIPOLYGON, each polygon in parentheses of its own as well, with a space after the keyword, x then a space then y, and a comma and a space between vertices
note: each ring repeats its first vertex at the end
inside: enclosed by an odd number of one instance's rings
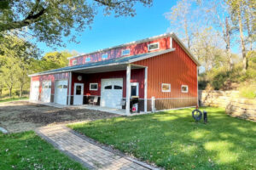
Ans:
POLYGON ((242 30, 242 21, 241 21, 241 6, 237 8, 237 13, 238 13, 238 22, 239 22, 239 32, 240 32, 240 39, 241 39, 241 55, 242 55, 242 72, 245 73, 247 71, 247 52, 245 48, 245 43, 244 43, 244 37, 243 37, 243 30, 242 30))

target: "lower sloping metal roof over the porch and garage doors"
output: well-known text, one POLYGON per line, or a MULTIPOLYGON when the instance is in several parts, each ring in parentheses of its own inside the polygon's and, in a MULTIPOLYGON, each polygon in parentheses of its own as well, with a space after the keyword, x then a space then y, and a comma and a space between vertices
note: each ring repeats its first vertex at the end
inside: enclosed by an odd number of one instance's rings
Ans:
POLYGON ((157 56, 160 54, 166 54, 166 53, 172 52, 174 50, 175 49, 172 48, 172 49, 161 50, 161 51, 154 52, 154 53, 137 54, 137 55, 125 56, 125 57, 114 58, 114 59, 106 59, 106 60, 102 60, 102 61, 98 61, 98 62, 90 62, 90 63, 84 64, 84 65, 67 66, 67 67, 62 67, 62 68, 55 69, 55 70, 38 72, 38 73, 35 73, 32 75, 29 75, 29 77, 34 77, 34 76, 39 76, 39 75, 47 75, 47 74, 53 74, 53 73, 61 73, 61 72, 67 72, 67 71, 86 70, 86 69, 103 67, 103 66, 129 64, 129 63, 136 62, 138 60, 148 59, 150 57, 154 57, 154 56, 157 56))

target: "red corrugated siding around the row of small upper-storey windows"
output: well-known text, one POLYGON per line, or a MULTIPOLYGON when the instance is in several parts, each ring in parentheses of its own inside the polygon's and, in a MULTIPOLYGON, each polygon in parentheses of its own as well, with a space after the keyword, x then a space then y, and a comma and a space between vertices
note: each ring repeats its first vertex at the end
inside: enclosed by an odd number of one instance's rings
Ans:
MULTIPOLYGON (((122 48, 112 48, 108 49, 107 51, 104 52, 99 52, 95 54, 88 54, 84 56, 80 56, 77 58, 73 58, 69 60, 69 66, 73 65, 73 60, 78 59, 78 64, 77 65, 84 65, 85 64, 85 59, 90 57, 90 62, 97 62, 102 60, 102 54, 108 54, 108 59, 113 59, 113 58, 119 58, 122 57, 121 53, 122 50, 130 48, 131 49, 131 54, 130 55, 137 55, 137 54, 146 54, 148 53, 148 44, 149 43, 154 43, 154 42, 160 42, 160 49, 159 50, 164 50, 164 49, 169 49, 170 48, 170 37, 164 37, 160 38, 154 41, 150 42, 143 42, 143 43, 138 43, 138 44, 133 44, 129 45, 127 47, 122 47, 122 48)), ((157 51, 157 50, 155 50, 157 51)), ((154 51, 154 52, 155 52, 154 51)))

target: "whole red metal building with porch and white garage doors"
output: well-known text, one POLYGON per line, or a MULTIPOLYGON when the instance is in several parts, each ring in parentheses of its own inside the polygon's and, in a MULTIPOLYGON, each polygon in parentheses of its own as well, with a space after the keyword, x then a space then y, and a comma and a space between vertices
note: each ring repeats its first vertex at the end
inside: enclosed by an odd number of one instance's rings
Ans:
POLYGON ((199 65, 174 33, 69 58, 67 67, 31 75, 31 100, 137 111, 197 105, 199 65), (128 95, 127 95, 128 94, 128 95))

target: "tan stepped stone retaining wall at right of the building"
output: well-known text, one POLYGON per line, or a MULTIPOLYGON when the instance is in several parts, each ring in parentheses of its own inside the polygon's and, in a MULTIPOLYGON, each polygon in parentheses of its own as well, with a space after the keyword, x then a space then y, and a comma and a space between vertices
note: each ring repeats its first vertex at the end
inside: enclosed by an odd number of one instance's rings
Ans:
POLYGON ((241 99, 239 91, 199 90, 200 105, 223 107, 230 116, 256 121, 256 99, 241 99))

